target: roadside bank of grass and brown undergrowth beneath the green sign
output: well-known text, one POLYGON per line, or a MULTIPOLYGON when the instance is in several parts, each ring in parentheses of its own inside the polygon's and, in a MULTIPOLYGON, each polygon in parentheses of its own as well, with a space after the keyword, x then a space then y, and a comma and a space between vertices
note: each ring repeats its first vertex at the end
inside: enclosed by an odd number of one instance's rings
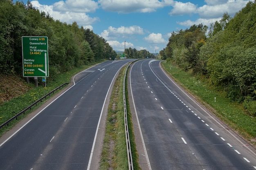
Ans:
MULTIPOLYGON (((51 69, 54 69, 54 68, 55 67, 52 67, 51 69)), ((32 83, 30 84, 25 83, 25 81, 24 80, 22 81, 22 78, 18 76, 13 75, 9 77, 7 75, 1 75, 2 77, 7 77, 12 80, 7 81, 6 78, 4 78, 5 80, 4 82, 6 84, 8 83, 9 85, 1 86, 2 84, 0 84, 0 92, 1 92, 0 93, 1 95, 0 124, 3 124, 7 120, 9 120, 11 117, 13 117, 20 111, 27 108, 32 103, 36 102, 38 99, 40 99, 50 91, 53 91, 55 88, 57 88, 61 84, 70 82, 70 79, 73 75, 84 70, 85 68, 88 68, 88 66, 81 66, 80 68, 76 67, 66 73, 58 73, 58 75, 56 74, 56 76, 54 76, 54 81, 49 81, 50 79, 49 77, 47 78, 47 87, 44 87, 42 84, 42 81, 39 81, 39 80, 38 80, 38 87, 35 87, 34 84, 32 83), (11 84, 11 82, 13 83, 13 79, 15 79, 16 82, 19 82, 19 84, 17 83, 15 85, 11 84)), ((42 79, 40 78, 40 80, 42 79)), ((57 93, 58 91, 56 91, 54 94, 57 94, 57 93)), ((25 114, 22 114, 21 116, 18 117, 18 120, 11 121, 9 126, 5 126, 4 128, 2 128, 0 130, 0 136, 4 132, 6 132, 7 130, 10 130, 13 126, 15 126, 20 119, 26 117, 28 113, 31 113, 33 110, 35 110, 36 108, 41 106, 43 103, 45 103, 47 99, 43 100, 43 102, 39 102, 36 106, 33 106, 31 110, 27 110, 25 114)))

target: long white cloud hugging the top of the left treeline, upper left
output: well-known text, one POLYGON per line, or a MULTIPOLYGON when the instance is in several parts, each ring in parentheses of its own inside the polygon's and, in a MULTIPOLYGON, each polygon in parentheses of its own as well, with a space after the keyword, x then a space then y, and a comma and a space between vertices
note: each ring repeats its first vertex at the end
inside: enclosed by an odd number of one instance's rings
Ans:
POLYGON ((38 9, 39 11, 45 11, 45 13, 49 13, 52 18, 55 20, 60 20, 61 22, 67 22, 68 24, 72 24, 72 22, 77 22, 78 25, 90 25, 99 20, 99 18, 90 18, 89 15, 82 12, 70 12, 70 11, 54 11, 53 5, 43 5, 40 4, 37 0, 31 1, 33 7, 38 9))

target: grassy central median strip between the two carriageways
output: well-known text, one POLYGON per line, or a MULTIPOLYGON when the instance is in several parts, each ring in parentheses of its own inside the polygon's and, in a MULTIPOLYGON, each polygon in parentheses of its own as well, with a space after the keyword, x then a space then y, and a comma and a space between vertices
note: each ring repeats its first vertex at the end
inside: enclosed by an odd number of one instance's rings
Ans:
MULTIPOLYGON (((126 150, 126 136, 124 126, 124 102, 123 102, 123 81, 126 68, 122 68, 110 97, 108 116, 106 121, 106 132, 101 153, 99 170, 128 170, 128 157, 126 150)), ((127 87, 127 86, 126 86, 127 87)), ((126 94, 128 97, 128 94, 126 94)), ((126 100, 126 102, 128 99, 126 100)), ((126 103, 127 106, 128 102, 126 103)), ((130 111, 128 111, 129 136, 132 148, 132 159, 134 169, 140 170, 138 155, 136 155, 135 137, 130 111)))

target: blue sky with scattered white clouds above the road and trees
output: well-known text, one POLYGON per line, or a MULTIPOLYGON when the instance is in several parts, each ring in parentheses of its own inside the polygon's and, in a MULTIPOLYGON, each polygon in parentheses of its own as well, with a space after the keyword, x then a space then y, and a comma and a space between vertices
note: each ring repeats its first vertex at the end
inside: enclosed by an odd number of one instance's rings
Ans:
MULTIPOLYGON (((30 0, 55 20, 91 29, 116 51, 159 53, 173 31, 234 17, 249 0, 30 0)), ((25 1, 24 1, 25 2, 25 1)))

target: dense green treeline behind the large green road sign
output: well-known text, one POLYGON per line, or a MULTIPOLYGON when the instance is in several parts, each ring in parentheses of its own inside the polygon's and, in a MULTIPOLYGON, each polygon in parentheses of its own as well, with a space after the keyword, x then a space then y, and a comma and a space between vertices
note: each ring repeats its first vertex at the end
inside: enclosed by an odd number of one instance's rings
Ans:
POLYGON ((54 20, 30 1, 0 0, 0 73, 22 75, 22 36, 48 37, 51 79, 73 67, 117 56, 104 38, 76 22, 54 20))

